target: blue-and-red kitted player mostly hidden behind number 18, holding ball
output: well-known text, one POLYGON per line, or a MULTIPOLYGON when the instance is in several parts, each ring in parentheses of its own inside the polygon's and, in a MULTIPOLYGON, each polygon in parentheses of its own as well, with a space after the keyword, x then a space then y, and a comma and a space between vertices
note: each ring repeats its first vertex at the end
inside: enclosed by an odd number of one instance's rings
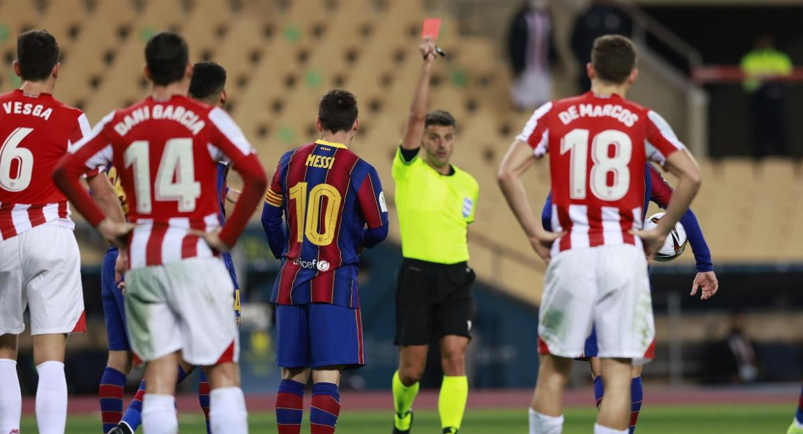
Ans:
MULTIPOLYGON (((646 188, 642 220, 646 218, 646 211, 650 202, 654 202, 658 207, 666 209, 672 197, 672 187, 661 176, 658 169, 655 169, 650 163, 646 165, 644 178, 646 188)), ((544 229, 552 231, 552 193, 547 195, 546 202, 544 202, 544 209, 541 211, 541 223, 544 225, 544 229)), ((702 299, 707 300, 719 289, 714 265, 711 264, 711 251, 708 249, 708 244, 703 237, 703 231, 700 229, 699 223, 697 223, 697 217, 691 209, 687 210, 686 214, 681 217, 680 223, 686 229, 686 235, 689 244, 691 244, 691 252, 694 253, 697 263, 697 275, 691 287, 691 295, 694 296, 699 289, 702 289, 702 299)), ((597 359, 596 330, 591 331, 591 335, 585 342, 583 359, 588 359, 591 363, 591 375, 594 379, 594 397, 597 399, 597 407, 599 407, 602 402, 602 396, 605 394, 605 388, 602 386, 602 377, 599 375, 600 366, 597 359)), ((630 383, 630 434, 635 432, 638 414, 642 408, 644 396, 642 366, 634 366, 632 374, 633 379, 630 383)))

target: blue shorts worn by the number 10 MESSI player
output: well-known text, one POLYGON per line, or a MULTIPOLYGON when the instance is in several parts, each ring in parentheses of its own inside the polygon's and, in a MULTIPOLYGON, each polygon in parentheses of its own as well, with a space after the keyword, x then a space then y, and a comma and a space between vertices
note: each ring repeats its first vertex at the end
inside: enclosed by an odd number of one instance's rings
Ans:
POLYGON ((276 305, 276 364, 284 368, 365 366, 360 309, 276 305))

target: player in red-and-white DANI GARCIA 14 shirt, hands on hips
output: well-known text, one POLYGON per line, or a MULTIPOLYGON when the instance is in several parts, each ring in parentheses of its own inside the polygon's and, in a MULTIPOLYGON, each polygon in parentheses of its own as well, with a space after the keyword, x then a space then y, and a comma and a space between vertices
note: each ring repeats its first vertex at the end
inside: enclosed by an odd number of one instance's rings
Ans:
POLYGON ((234 287, 217 252, 234 245, 267 179, 226 112, 186 96, 193 66, 180 35, 154 35, 145 60, 151 95, 104 117, 59 162, 54 178, 104 238, 128 239, 126 326, 134 354, 147 362, 145 433, 178 432, 173 393, 181 358, 209 366, 212 432, 245 433, 234 287), (244 188, 221 228, 214 173, 223 159, 243 175, 244 188), (96 164, 120 173, 131 223, 110 222, 77 188, 76 174, 96 164))

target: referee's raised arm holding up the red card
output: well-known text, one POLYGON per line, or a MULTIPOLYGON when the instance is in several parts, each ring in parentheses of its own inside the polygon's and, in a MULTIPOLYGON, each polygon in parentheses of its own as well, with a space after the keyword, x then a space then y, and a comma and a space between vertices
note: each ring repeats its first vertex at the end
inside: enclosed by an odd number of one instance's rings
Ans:
POLYGON ((421 66, 421 74, 418 76, 418 84, 416 84, 413 94, 413 103, 410 104, 410 116, 407 117, 407 124, 402 136, 402 154, 407 161, 412 160, 418 154, 418 149, 421 148, 421 138, 424 137, 426 106, 430 100, 430 79, 435 58, 438 56, 436 48, 432 39, 425 39, 418 47, 424 56, 424 63, 421 66), (408 156, 410 158, 407 158, 408 156))

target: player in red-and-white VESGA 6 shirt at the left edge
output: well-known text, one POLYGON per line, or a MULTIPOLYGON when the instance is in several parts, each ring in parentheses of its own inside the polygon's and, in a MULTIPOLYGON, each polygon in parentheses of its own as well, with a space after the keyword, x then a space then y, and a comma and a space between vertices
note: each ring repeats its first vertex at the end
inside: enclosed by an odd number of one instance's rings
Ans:
MULTIPOLYGON (((67 420, 67 334, 86 330, 86 321, 75 225, 51 174, 67 149, 89 133, 89 123, 79 109, 51 95, 59 77, 53 35, 19 35, 14 72, 22 85, 0 95, 0 432, 19 432, 17 336, 25 330, 27 306, 39 373, 36 420, 39 432, 55 434, 64 432, 67 420)), ((79 175, 91 172, 96 201, 111 219, 123 221, 112 186, 95 169, 79 175)))

